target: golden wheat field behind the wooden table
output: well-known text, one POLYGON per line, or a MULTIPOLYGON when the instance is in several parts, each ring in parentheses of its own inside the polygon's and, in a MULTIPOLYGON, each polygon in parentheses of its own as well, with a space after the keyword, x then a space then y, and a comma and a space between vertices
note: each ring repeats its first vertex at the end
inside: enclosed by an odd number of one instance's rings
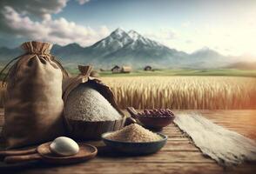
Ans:
POLYGON ((121 108, 255 109, 254 77, 102 77, 121 108))

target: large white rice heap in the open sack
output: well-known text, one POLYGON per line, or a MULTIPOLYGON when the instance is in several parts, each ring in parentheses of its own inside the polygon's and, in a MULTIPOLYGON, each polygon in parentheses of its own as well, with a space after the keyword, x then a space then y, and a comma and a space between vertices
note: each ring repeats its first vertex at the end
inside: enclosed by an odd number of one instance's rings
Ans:
POLYGON ((89 122, 114 121, 122 118, 118 110, 90 84, 79 84, 71 91, 65 105, 65 116, 72 120, 89 122))

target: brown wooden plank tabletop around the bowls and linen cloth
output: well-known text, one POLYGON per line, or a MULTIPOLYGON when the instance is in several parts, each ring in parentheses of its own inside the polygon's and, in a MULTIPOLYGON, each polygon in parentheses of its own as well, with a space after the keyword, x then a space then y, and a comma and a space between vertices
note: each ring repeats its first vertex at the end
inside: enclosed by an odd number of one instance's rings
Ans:
MULTIPOLYGON (((197 112, 212 122, 229 130, 256 140, 256 110, 176 110, 197 112)), ((0 113, 0 127, 3 125, 3 110, 0 113)), ((158 153, 144 157, 117 157, 100 151, 98 157, 82 164, 53 166, 34 163, 29 166, 12 167, 12 171, 26 173, 256 173, 256 163, 241 164, 232 169, 223 169, 209 157, 205 157, 188 137, 185 137, 173 124, 163 133, 168 135, 165 147, 158 153)), ((221 145, 221 144, 220 144, 221 145)), ((1 171, 10 170, 3 163, 1 171)))

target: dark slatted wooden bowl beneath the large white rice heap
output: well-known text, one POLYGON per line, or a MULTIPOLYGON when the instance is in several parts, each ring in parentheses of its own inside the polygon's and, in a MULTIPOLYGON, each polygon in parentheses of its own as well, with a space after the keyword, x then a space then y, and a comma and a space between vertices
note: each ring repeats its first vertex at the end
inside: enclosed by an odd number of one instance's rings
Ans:
POLYGON ((65 124, 70 137, 74 139, 89 140, 100 139, 108 131, 118 131, 124 127, 126 117, 116 121, 87 122, 66 118, 65 124))

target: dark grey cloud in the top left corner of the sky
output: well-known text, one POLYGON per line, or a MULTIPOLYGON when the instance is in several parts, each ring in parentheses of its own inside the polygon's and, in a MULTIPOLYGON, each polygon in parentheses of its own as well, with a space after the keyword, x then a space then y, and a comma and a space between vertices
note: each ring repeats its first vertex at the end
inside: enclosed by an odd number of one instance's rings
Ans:
POLYGON ((23 15, 32 15, 36 17, 45 17, 51 14, 57 14, 64 9, 68 0, 1 0, 0 7, 10 6, 18 13, 23 15))

